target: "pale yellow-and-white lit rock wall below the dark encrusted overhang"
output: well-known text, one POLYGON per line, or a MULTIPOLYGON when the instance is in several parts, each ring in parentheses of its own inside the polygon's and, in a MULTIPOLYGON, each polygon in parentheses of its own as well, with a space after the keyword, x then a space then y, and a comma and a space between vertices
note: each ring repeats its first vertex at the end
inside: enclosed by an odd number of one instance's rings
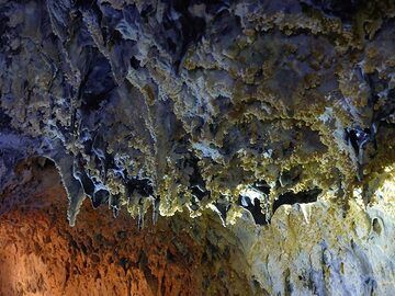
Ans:
POLYGON ((393 295, 394 194, 366 209, 350 202, 346 217, 328 201, 286 205, 269 227, 239 221, 234 231, 270 295, 393 295))

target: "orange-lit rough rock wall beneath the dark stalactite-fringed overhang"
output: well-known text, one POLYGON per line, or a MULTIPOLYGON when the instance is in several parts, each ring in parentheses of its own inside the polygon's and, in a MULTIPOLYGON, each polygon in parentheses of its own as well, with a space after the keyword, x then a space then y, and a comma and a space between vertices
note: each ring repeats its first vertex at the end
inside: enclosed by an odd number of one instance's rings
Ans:
POLYGON ((129 215, 86 205, 70 228, 66 201, 53 163, 18 166, 0 195, 0 295, 261 295, 235 235, 213 217, 138 230, 129 215))

